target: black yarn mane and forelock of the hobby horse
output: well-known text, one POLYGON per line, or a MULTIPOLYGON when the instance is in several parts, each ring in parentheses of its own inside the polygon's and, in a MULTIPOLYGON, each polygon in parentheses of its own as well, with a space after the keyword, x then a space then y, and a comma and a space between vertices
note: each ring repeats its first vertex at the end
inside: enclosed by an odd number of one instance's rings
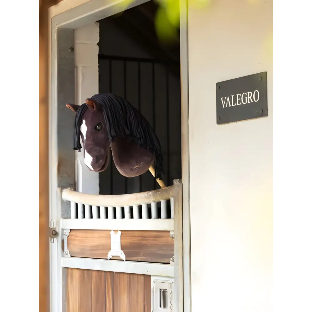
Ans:
MULTIPOLYGON (((102 107, 109 141, 114 142, 116 137, 124 137, 149 150, 155 155, 155 178, 161 179, 161 172, 163 172, 161 146, 154 129, 144 116, 127 100, 112 93, 96 94, 90 100, 102 107)), ((75 117, 74 149, 79 152, 82 148, 80 125, 87 109, 86 104, 80 105, 75 117)))

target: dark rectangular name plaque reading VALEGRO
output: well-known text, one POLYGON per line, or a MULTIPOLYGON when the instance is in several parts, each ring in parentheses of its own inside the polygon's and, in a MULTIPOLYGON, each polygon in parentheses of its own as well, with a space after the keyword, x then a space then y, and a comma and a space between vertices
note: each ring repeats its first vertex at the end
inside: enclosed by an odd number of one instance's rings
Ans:
POLYGON ((216 84, 217 124, 268 115, 267 72, 216 84))

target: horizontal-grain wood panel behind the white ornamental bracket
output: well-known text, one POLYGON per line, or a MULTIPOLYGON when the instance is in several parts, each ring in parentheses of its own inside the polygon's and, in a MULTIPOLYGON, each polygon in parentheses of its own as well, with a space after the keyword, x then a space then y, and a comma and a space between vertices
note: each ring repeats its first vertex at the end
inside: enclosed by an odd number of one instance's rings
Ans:
MULTIPOLYGON (((71 230, 67 244, 73 257, 107 259, 111 247, 110 231, 71 230)), ((126 261, 170 263, 174 241, 169 231, 121 231, 121 249, 126 261)), ((120 260, 118 257, 113 259, 120 260)))

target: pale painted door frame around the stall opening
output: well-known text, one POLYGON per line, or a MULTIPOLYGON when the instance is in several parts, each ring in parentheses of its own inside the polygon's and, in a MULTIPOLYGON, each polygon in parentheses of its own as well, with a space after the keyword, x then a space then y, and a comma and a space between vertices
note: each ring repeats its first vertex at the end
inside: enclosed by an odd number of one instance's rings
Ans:
MULTIPOLYGON (((50 98, 50 227, 60 231, 60 219, 70 217, 59 188, 75 188, 75 154, 72 147, 72 112, 66 103, 75 101, 74 29, 120 12, 124 0, 90 0, 51 19, 50 98), (63 205, 63 206, 62 206, 63 205)), ((137 0, 134 7, 147 0, 137 0)), ((181 136, 183 183, 183 310, 191 310, 191 259, 189 213, 189 127, 188 127, 188 0, 180 0, 181 136)), ((61 233, 60 233, 61 234, 61 233)), ((59 237, 62 237, 61 235, 59 237)), ((61 239, 50 243, 51 311, 66 311, 66 269, 61 266, 61 239), (57 298, 57 299, 56 299, 57 298)))

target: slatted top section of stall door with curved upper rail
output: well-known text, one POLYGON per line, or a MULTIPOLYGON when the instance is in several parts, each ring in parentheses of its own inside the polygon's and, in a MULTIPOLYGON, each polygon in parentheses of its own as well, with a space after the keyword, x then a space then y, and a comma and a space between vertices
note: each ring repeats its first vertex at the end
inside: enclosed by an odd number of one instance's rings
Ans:
POLYGON ((174 230, 176 186, 125 195, 93 195, 64 189, 62 199, 71 203, 66 229, 174 230))

